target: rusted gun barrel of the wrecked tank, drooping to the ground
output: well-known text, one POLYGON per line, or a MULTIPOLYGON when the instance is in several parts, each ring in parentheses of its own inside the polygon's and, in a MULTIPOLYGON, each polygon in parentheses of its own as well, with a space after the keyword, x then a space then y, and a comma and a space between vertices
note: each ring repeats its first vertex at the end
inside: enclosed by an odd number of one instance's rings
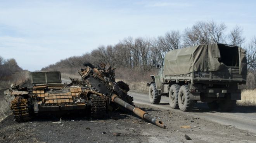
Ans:
POLYGON ((142 109, 136 108, 136 107, 126 103, 125 101, 120 99, 116 94, 113 94, 111 96, 111 100, 112 100, 112 102, 119 104, 119 105, 123 106, 124 108, 132 111, 134 114, 138 115, 140 118, 145 119, 145 120, 149 121, 150 123, 155 124, 161 128, 164 128, 164 129, 166 128, 166 126, 164 126, 162 121, 156 119, 155 117, 150 116, 148 113, 146 113, 142 109))

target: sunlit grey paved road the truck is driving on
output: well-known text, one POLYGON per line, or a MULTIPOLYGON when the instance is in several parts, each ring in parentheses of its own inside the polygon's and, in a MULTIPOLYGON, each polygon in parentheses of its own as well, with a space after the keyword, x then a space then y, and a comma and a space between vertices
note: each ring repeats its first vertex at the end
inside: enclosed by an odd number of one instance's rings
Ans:
MULTIPOLYGON (((174 112, 182 112, 178 109, 171 109, 168 98, 165 96, 162 96, 160 104, 156 105, 149 103, 148 94, 131 91, 128 94, 133 96, 135 103, 170 109, 170 111, 174 112)), ((232 125, 236 128, 256 133, 256 106, 237 106, 234 111, 223 113, 221 111, 210 110, 206 103, 197 103, 192 112, 186 112, 184 114, 200 117, 220 124, 232 125)))

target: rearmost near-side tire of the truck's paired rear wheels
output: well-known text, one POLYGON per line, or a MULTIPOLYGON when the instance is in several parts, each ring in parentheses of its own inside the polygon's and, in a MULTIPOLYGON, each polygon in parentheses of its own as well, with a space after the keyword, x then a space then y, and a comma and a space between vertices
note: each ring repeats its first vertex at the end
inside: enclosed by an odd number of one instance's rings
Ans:
POLYGON ((194 100, 189 98, 189 86, 183 85, 180 87, 178 94, 178 104, 181 111, 187 112, 193 109, 194 100))

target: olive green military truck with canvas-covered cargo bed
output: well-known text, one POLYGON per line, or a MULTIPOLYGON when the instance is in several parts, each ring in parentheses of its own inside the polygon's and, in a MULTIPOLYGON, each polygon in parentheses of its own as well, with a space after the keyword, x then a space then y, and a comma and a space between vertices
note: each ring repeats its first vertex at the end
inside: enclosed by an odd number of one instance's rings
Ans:
POLYGON ((157 75, 151 75, 149 101, 168 96, 171 108, 191 111, 197 101, 210 109, 231 111, 246 84, 245 50, 226 44, 203 44, 166 53, 157 75))

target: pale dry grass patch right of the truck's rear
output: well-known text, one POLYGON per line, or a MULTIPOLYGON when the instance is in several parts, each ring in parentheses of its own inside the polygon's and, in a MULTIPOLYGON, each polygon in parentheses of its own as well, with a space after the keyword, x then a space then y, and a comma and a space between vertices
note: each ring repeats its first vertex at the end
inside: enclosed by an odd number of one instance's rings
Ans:
POLYGON ((246 89, 241 93, 241 100, 237 101, 241 105, 256 105, 256 89, 246 89))

